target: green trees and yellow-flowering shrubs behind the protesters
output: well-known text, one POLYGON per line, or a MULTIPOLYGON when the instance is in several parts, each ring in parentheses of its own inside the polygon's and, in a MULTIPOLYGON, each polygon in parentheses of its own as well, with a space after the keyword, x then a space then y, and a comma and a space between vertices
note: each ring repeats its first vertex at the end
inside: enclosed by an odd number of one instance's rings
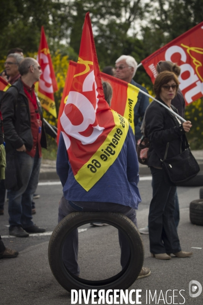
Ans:
MULTIPOLYGON (((202 7, 203 0, 1 0, 0 68, 11 48, 23 48, 25 54, 37 52, 44 25, 60 88, 55 94, 58 109, 67 62, 77 60, 87 12, 90 12, 99 66, 103 69, 113 66, 122 54, 132 55, 140 63, 201 22, 202 7)), ((152 90, 143 67, 134 79, 152 90)), ((203 122, 197 113, 202 108, 202 99, 199 101, 187 107, 186 115, 196 122, 195 133, 202 137, 203 122)))

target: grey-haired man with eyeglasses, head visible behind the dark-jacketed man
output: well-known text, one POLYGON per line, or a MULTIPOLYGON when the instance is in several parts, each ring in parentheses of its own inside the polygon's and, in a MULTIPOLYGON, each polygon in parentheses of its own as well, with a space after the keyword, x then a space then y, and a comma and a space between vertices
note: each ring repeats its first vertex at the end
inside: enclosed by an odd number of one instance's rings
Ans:
POLYGON ((4 63, 6 73, 3 72, 2 77, 11 85, 20 78, 18 67, 22 59, 23 56, 20 54, 12 53, 7 56, 6 62, 4 63))

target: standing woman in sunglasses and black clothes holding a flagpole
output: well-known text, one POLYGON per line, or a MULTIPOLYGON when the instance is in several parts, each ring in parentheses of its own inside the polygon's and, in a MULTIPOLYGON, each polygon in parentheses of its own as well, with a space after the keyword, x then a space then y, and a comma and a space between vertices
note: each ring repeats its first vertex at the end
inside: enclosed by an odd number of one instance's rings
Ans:
MULTIPOLYGON (((171 105, 179 87, 177 76, 173 72, 161 72, 155 79, 156 99, 177 112, 171 105)), ((183 252, 174 220, 176 187, 172 186, 162 169, 166 146, 167 156, 172 158, 181 153, 185 133, 192 127, 190 121, 183 124, 166 108, 156 101, 146 112, 146 131, 150 142, 148 165, 152 173, 153 198, 149 210, 150 252, 157 259, 170 259, 191 256, 192 252, 183 252), (167 145, 168 143, 168 145, 167 145)))

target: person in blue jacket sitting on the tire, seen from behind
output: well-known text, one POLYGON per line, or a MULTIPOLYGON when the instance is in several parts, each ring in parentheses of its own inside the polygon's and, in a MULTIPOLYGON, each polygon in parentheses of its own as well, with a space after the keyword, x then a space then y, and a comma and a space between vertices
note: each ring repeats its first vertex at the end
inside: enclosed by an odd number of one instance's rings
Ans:
MULTIPOLYGON (((103 82, 103 89, 105 100, 110 105, 112 87, 108 82, 103 82)), ((125 121, 127 122, 127 120, 125 121)), ((136 209, 141 202, 141 197, 138 189, 138 157, 131 127, 128 129, 118 157, 88 192, 82 188, 73 175, 62 134, 60 134, 59 139, 56 170, 63 186, 63 196, 58 210, 58 222, 76 211, 120 212, 137 226, 136 209)), ((119 243, 121 266, 124 268, 130 256, 130 248, 127 239, 120 231, 119 243)), ((66 268, 73 275, 79 276, 77 229, 66 238, 62 258, 66 268)), ((150 273, 149 268, 143 267, 138 279, 148 277, 150 273)))

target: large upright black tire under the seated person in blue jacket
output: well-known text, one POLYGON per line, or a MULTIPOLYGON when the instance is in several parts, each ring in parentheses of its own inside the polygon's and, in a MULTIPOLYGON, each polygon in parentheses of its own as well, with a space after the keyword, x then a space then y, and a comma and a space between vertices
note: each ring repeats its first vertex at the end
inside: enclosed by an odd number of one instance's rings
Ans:
POLYGON ((138 278, 144 261, 144 245, 137 227, 121 213, 74 212, 66 216, 54 229, 48 248, 51 271, 58 283, 67 291, 72 289, 128 289, 138 278), (130 258, 116 276, 102 281, 78 278, 67 270, 62 261, 62 247, 67 235, 87 223, 105 222, 122 231, 130 245, 130 258))

